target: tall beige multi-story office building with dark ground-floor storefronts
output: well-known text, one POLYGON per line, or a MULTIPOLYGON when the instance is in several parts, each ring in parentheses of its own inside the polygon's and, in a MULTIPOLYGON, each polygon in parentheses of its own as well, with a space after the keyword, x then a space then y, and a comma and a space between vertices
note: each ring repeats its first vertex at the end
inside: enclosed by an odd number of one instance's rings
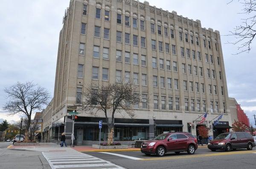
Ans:
MULTIPOLYGON (((51 129, 55 139, 61 132, 70 138, 67 112, 79 108, 85 87, 131 81, 144 102, 133 106, 133 119, 116 113, 116 141, 152 138, 154 127, 157 134, 197 135, 197 127, 205 125, 213 135, 212 119, 220 113, 224 123, 218 127, 231 124, 219 31, 146 1, 70 0, 59 38, 51 124, 44 130, 51 129), (206 121, 198 124, 205 112, 206 121)), ((104 117, 80 112, 76 144, 99 139, 99 120, 105 140, 104 117)))

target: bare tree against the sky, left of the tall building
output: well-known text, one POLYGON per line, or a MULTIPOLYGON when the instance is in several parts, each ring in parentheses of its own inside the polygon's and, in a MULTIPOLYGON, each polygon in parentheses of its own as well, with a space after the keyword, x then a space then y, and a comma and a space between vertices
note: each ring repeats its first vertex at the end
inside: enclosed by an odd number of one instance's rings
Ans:
POLYGON ((49 92, 39 85, 32 82, 20 83, 6 87, 4 89, 9 99, 3 109, 10 112, 9 115, 26 115, 28 122, 26 130, 29 131, 31 115, 35 110, 41 110, 48 104, 50 99, 49 92))

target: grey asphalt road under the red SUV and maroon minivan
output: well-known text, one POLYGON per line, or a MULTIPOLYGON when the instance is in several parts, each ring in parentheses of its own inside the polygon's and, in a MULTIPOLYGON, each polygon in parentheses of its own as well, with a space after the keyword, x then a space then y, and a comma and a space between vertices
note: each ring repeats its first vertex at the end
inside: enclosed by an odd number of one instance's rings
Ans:
POLYGON ((146 156, 141 152, 111 153, 86 152, 127 169, 256 169, 255 147, 252 151, 239 149, 231 152, 211 152, 207 148, 198 148, 194 155, 188 155, 186 152, 179 155, 169 153, 162 158, 155 155, 146 156))

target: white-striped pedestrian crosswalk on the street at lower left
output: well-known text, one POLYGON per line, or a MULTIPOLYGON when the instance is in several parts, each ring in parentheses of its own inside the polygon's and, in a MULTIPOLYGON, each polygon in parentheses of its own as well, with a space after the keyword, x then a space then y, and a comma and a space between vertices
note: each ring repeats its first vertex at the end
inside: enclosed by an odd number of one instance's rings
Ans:
POLYGON ((42 152, 52 169, 124 169, 109 161, 77 151, 42 152))

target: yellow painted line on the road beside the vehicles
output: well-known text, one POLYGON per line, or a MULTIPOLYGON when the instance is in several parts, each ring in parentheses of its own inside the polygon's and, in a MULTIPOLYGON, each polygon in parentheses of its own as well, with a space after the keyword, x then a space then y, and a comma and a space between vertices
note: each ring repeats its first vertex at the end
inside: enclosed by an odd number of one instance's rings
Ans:
POLYGON ((164 157, 164 158, 144 158, 142 161, 172 160, 172 159, 181 159, 181 158, 198 158, 198 157, 211 157, 211 156, 218 156, 218 155, 236 155, 236 154, 249 154, 249 153, 256 153, 256 151, 222 152, 222 153, 213 153, 213 154, 204 154, 204 155, 186 155, 186 156, 164 157))

